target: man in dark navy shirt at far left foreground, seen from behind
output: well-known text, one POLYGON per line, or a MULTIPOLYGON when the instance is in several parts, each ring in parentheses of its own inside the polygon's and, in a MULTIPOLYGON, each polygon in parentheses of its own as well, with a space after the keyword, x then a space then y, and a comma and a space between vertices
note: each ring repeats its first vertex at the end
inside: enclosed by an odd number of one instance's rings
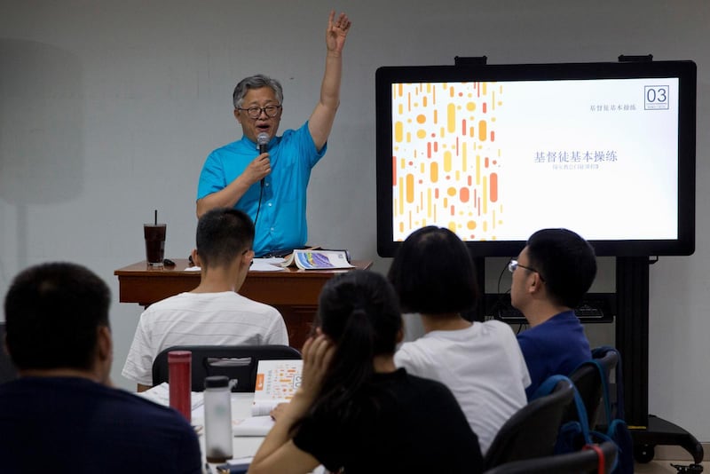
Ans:
POLYGON ((201 473, 185 418, 111 386, 110 291, 80 265, 30 267, 5 296, 20 378, 0 384, 0 471, 201 473))

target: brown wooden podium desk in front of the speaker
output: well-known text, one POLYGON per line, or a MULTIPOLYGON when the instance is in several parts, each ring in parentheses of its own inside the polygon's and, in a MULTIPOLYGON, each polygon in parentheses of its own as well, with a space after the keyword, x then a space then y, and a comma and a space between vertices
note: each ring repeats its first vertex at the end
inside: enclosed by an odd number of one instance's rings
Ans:
MULTIPOLYGON (((143 307, 169 296, 190 291, 200 284, 200 272, 185 272, 186 258, 173 258, 174 267, 151 268, 143 260, 119 268, 119 302, 138 303, 143 307)), ((367 269, 372 262, 354 260, 352 265, 367 269)), ((300 270, 249 272, 239 293, 249 299, 276 307, 288 328, 288 340, 299 351, 311 331, 318 308, 320 288, 338 273, 347 270, 300 270)))

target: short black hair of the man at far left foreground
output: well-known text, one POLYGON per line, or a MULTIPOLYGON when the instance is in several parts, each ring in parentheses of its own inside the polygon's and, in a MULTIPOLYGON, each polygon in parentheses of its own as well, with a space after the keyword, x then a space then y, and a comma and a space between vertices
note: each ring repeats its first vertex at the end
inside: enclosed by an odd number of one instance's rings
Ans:
POLYGON ((18 274, 5 296, 5 337, 22 369, 91 369, 111 291, 82 265, 48 263, 18 274))

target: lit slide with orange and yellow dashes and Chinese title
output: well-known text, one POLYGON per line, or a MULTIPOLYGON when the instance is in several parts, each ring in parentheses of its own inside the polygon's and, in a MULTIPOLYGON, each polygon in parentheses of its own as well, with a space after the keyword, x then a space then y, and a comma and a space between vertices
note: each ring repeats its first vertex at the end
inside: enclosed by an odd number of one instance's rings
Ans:
POLYGON ((393 237, 676 239, 677 78, 392 84, 393 237))

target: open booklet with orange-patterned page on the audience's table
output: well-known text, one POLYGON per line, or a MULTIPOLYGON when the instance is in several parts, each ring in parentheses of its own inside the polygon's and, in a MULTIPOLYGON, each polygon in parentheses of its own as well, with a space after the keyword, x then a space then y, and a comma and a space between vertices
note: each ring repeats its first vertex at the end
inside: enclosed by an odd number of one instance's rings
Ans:
POLYGON ((234 436, 266 436, 272 429, 272 409, 288 403, 301 386, 304 361, 259 360, 251 416, 233 424, 234 436))

